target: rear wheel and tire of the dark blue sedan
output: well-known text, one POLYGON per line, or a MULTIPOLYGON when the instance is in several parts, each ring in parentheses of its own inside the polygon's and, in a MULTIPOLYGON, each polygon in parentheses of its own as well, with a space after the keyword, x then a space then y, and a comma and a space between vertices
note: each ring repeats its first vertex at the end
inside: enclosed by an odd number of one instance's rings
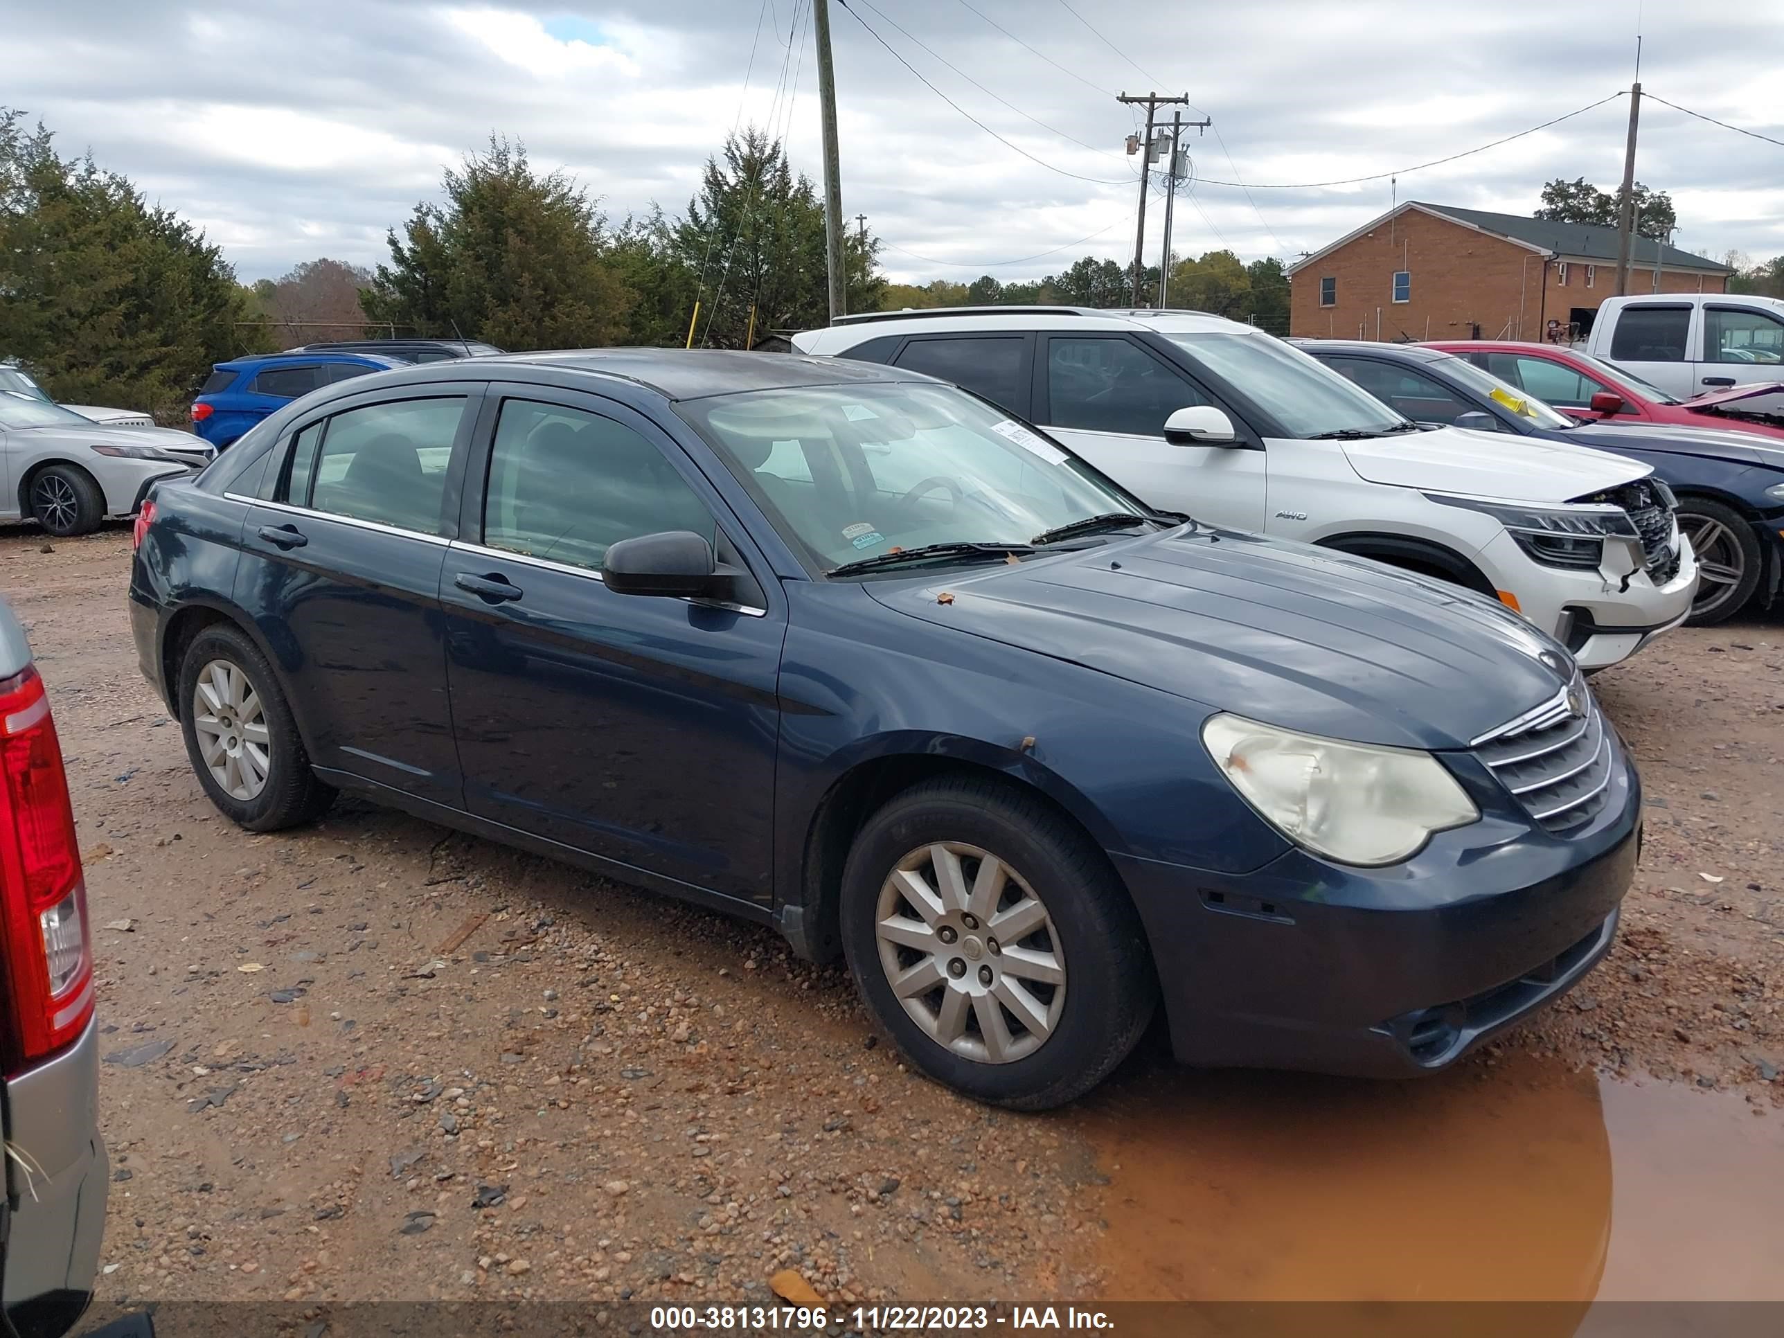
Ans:
POLYGON ((219 623, 193 637, 178 692, 186 756, 232 822, 280 831, 334 803, 334 789, 310 771, 278 674, 241 628, 219 623))

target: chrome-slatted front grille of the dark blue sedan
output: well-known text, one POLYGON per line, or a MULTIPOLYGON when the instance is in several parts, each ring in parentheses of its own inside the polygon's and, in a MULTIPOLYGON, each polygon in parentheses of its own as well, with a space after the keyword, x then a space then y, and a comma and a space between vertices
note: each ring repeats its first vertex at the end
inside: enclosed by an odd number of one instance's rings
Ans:
POLYGON ((1579 676, 1536 710, 1475 739, 1474 751, 1549 831, 1570 831, 1604 808, 1611 730, 1579 676))

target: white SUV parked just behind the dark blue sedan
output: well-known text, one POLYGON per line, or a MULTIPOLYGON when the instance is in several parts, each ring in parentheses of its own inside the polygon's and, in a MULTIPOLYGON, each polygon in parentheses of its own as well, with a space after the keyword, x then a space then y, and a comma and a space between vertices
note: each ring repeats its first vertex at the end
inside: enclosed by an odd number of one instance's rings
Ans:
POLYGON ((846 316, 792 343, 951 380, 1156 507, 1497 596, 1588 671, 1691 612, 1697 558, 1648 466, 1411 423, 1249 325, 976 307, 846 316))

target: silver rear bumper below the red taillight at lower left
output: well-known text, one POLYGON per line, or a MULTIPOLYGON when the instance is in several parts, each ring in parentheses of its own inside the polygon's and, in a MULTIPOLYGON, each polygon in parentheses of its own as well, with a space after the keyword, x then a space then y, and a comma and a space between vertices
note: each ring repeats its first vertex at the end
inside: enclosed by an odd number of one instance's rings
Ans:
POLYGON ((54 1060, 5 1085, 7 1138, 37 1174, 7 1158, 12 1222, 5 1313, 20 1338, 55 1338, 93 1297, 105 1233, 109 1161, 98 1129, 98 1022, 54 1060))

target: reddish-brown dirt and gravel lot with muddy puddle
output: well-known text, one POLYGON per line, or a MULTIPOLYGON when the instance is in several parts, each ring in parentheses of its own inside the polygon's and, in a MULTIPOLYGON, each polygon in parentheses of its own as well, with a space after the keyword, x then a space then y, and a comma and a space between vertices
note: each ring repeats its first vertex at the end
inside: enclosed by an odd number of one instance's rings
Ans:
POLYGON ((107 1302, 760 1301, 789 1267, 833 1301, 1784 1295, 1784 617, 1597 680, 1647 855, 1550 1015, 1413 1085, 1154 1037, 1017 1117, 769 931, 359 803, 228 826, 137 676, 128 551, 0 532, 87 860, 107 1302), (1408 1263, 1458 1220, 1499 1251, 1408 1263))

